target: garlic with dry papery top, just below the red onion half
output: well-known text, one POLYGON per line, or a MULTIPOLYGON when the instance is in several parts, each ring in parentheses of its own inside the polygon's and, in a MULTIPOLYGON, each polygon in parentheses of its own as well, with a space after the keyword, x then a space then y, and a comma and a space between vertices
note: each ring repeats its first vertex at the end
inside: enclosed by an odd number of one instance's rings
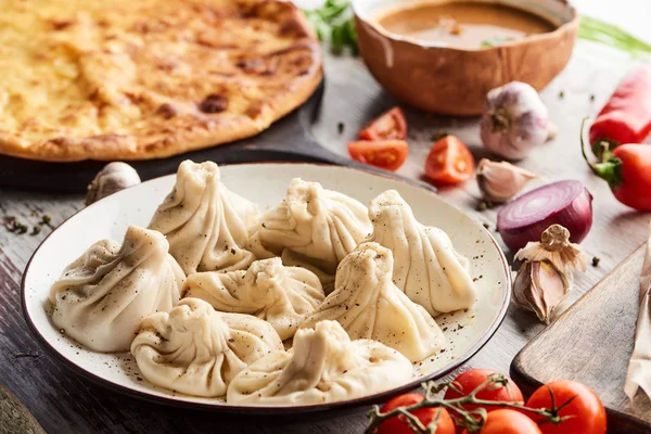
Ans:
POLYGON ((513 302, 549 323, 556 307, 567 296, 575 269, 585 271, 586 256, 570 242, 570 231, 551 225, 540 242, 529 242, 515 254, 524 264, 513 282, 513 302))

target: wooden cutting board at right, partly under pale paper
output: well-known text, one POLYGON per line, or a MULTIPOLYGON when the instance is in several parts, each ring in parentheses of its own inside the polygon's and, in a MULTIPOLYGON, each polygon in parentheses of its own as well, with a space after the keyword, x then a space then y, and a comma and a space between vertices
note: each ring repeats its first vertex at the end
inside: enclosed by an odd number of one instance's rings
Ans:
POLYGON ((511 376, 525 394, 554 380, 579 381, 607 407, 609 433, 651 433, 649 398, 638 393, 630 403, 624 394, 643 255, 641 246, 515 356, 511 376))

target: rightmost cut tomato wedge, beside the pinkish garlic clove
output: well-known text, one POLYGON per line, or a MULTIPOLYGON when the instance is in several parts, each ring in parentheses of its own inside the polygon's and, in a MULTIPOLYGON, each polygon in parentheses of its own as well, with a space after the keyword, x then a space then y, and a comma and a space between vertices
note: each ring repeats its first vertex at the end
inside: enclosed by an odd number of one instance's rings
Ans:
POLYGON ((454 184, 468 180, 475 169, 469 149, 455 136, 439 139, 425 162, 425 175, 434 182, 454 184))

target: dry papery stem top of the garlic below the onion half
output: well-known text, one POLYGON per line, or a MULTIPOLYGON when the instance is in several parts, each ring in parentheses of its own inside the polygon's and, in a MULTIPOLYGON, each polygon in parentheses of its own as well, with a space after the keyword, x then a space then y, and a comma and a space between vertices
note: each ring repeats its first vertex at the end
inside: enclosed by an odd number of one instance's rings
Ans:
POLYGON ((570 231, 561 225, 545 229, 539 242, 528 242, 515 254, 520 260, 549 260, 572 280, 574 270, 586 270, 587 257, 577 244, 570 242, 570 231))

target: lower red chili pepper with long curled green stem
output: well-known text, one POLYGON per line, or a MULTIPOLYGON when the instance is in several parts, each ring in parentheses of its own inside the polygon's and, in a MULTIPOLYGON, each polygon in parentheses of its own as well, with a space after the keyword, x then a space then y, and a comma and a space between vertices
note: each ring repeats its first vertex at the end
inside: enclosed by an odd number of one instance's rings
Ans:
MULTIPOLYGON (((585 126, 586 119, 584 119, 585 126)), ((614 196, 624 205, 638 210, 651 210, 651 146, 637 143, 622 144, 605 161, 592 164, 586 155, 582 135, 582 152, 599 178, 608 181, 614 196)))

